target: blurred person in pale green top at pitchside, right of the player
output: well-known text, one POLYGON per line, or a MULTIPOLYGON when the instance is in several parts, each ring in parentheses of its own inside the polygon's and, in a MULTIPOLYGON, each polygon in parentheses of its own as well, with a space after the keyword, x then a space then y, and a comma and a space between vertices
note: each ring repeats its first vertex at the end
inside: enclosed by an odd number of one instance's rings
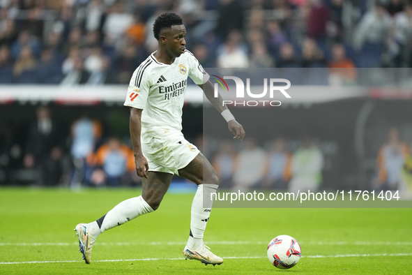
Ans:
POLYGON ((304 135, 302 144, 292 156, 292 179, 289 191, 316 191, 322 181, 323 154, 309 135, 304 135))

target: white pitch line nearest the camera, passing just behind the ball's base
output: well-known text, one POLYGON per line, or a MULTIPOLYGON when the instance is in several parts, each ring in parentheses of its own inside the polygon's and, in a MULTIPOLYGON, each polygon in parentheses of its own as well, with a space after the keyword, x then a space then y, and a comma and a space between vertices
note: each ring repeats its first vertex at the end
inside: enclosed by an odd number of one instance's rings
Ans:
MULTIPOLYGON (((302 258, 347 258, 347 257, 391 257, 391 256, 412 256, 412 253, 380 253, 380 254, 337 254, 337 255, 303 255, 302 258)), ((266 257, 224 257, 224 259, 264 259, 266 257)), ((94 260, 93 262, 132 262, 146 260, 185 260, 184 258, 143 258, 143 259, 117 259, 117 260, 94 260)), ((0 265, 22 265, 22 264, 45 264, 63 262, 84 262, 83 260, 47 260, 31 262, 0 262, 0 265)))

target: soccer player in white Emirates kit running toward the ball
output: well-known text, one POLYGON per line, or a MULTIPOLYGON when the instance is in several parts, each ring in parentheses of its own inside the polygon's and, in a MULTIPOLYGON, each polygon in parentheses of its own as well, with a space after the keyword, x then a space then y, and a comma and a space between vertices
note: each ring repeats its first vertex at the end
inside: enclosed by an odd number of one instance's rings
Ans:
POLYGON ((178 174, 198 186, 192 202, 190 235, 183 255, 205 265, 220 265, 222 258, 203 243, 213 202, 211 193, 216 192, 219 180, 211 163, 181 133, 188 76, 203 89, 208 100, 227 120, 234 138, 243 140, 245 131, 222 105, 222 97, 213 96, 213 84, 208 80, 208 74, 185 49, 186 29, 181 17, 174 13, 160 15, 153 24, 153 34, 158 40, 158 50, 133 73, 124 103, 131 107, 130 136, 136 172, 142 177, 142 195, 119 203, 97 221, 79 223, 75 228, 79 251, 89 264, 91 249, 98 235, 158 209, 171 177, 178 174))

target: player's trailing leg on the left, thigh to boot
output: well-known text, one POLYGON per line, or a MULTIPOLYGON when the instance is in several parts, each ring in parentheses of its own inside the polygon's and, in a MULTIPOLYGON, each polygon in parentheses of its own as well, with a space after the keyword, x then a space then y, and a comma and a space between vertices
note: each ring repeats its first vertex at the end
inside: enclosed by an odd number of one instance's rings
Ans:
POLYGON ((142 195, 124 200, 96 221, 79 223, 76 226, 79 251, 83 254, 86 264, 91 262, 91 249, 98 235, 158 209, 173 175, 164 172, 148 172, 147 175, 148 179, 142 180, 142 195))

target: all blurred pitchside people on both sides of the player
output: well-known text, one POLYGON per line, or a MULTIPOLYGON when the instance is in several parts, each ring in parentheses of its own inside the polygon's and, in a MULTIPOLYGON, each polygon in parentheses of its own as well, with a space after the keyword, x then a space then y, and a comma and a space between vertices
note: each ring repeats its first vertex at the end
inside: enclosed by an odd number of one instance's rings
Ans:
MULTIPOLYGON (((77 114, 68 134, 47 106, 37 107, 23 137, 7 124, 1 128, 0 185, 139 186, 142 181, 135 172, 128 134, 108 133, 87 108, 77 114)), ((336 170, 339 144, 319 140, 309 127, 299 129, 295 137, 277 135, 262 140, 250 134, 240 142, 199 135, 189 140, 211 161, 222 188, 296 192, 349 186, 337 179, 342 176, 336 170)), ((392 126, 377 148, 372 185, 367 188, 412 195, 412 143, 402 140, 399 128, 392 126)), ((185 181, 178 176, 174 179, 185 181)))

